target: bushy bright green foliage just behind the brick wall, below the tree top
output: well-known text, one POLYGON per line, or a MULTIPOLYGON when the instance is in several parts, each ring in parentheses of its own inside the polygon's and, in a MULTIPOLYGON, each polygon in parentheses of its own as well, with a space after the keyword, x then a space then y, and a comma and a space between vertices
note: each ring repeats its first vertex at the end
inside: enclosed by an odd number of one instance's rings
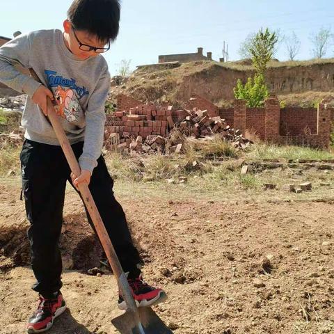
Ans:
POLYGON ((237 87, 233 88, 233 92, 237 100, 245 100, 246 106, 250 108, 263 106, 269 96, 263 74, 255 74, 254 79, 248 78, 245 85, 238 79, 237 87))

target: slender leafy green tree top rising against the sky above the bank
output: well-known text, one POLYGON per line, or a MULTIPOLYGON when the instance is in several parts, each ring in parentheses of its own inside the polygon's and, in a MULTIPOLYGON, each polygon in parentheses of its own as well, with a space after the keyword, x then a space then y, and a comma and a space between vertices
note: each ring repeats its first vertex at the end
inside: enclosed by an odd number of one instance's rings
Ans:
POLYGON ((278 42, 278 35, 276 31, 269 31, 266 28, 265 31, 260 29, 253 38, 252 45, 250 45, 250 54, 252 55, 253 65, 258 74, 263 74, 266 71, 267 64, 273 58, 276 45, 278 42))

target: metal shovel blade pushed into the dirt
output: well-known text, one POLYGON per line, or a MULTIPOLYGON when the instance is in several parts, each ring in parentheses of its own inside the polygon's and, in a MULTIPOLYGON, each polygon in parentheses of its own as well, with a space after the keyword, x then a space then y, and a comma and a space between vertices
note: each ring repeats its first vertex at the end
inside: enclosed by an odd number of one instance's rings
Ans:
POLYGON ((121 334, 173 334, 152 308, 138 308, 136 313, 126 311, 111 322, 121 334))

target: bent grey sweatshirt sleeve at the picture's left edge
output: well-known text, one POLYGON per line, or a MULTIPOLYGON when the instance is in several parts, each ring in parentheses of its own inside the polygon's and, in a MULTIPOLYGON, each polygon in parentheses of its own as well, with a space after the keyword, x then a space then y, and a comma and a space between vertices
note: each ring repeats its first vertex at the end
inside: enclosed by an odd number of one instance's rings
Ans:
POLYGON ((31 56, 31 35, 19 35, 0 47, 0 81, 6 86, 33 96, 40 83, 27 74, 22 74, 15 65, 29 68, 31 56))

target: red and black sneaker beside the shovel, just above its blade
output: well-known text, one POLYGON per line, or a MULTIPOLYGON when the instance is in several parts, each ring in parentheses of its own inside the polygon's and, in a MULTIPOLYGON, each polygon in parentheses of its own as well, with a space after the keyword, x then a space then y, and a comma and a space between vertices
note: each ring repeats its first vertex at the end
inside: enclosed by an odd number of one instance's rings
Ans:
MULTIPOLYGON (((134 301, 138 308, 143 308, 145 306, 157 305, 163 303, 167 299, 166 292, 162 289, 157 289, 155 287, 150 287, 143 280, 143 276, 138 276, 138 278, 131 279, 128 278, 129 286, 132 289, 132 296, 134 296, 134 301)), ((119 296, 118 308, 120 310, 127 309, 127 303, 119 296)))

